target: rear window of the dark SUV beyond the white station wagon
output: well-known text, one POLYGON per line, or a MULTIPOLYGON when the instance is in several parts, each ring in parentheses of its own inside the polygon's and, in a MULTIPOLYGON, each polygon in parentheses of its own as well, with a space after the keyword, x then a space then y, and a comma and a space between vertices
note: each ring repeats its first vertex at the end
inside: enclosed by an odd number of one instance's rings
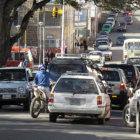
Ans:
POLYGON ((80 64, 52 64, 50 66, 50 72, 56 77, 59 77, 66 71, 83 73, 83 67, 80 64))

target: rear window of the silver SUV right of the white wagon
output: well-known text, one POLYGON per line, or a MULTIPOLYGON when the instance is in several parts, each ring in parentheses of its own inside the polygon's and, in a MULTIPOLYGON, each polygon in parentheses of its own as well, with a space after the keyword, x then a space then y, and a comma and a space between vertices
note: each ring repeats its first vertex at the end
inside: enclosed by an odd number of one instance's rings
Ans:
POLYGON ((106 81, 120 81, 118 71, 102 71, 103 79, 106 81))

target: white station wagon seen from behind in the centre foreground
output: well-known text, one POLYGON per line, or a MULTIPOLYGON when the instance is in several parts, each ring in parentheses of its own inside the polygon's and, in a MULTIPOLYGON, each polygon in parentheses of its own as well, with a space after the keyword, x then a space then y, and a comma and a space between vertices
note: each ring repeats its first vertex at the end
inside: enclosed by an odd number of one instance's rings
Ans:
POLYGON ((97 117, 99 124, 110 119, 110 98, 102 81, 93 74, 67 72, 58 79, 49 98, 49 119, 59 115, 97 117))

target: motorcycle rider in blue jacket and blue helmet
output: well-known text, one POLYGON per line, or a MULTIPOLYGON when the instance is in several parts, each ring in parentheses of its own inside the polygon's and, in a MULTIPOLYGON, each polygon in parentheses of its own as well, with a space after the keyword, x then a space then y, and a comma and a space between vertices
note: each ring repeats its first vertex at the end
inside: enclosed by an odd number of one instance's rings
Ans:
MULTIPOLYGON (((53 81, 57 81, 57 79, 48 71, 46 71, 46 66, 44 64, 39 65, 38 67, 39 72, 36 73, 34 77, 34 84, 38 86, 38 89, 42 89, 47 94, 47 97, 49 99, 50 95, 50 79, 53 81)), ((34 91, 34 94, 36 94, 36 90, 34 91)))

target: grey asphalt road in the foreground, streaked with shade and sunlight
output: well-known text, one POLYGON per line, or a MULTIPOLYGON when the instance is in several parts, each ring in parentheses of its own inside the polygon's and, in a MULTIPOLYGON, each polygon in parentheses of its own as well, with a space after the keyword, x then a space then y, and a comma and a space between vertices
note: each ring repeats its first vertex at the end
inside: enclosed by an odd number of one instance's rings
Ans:
POLYGON ((112 110, 111 120, 101 126, 91 118, 59 118, 50 123, 48 114, 33 119, 18 107, 0 110, 0 140, 139 140, 134 128, 122 122, 122 111, 112 110))

